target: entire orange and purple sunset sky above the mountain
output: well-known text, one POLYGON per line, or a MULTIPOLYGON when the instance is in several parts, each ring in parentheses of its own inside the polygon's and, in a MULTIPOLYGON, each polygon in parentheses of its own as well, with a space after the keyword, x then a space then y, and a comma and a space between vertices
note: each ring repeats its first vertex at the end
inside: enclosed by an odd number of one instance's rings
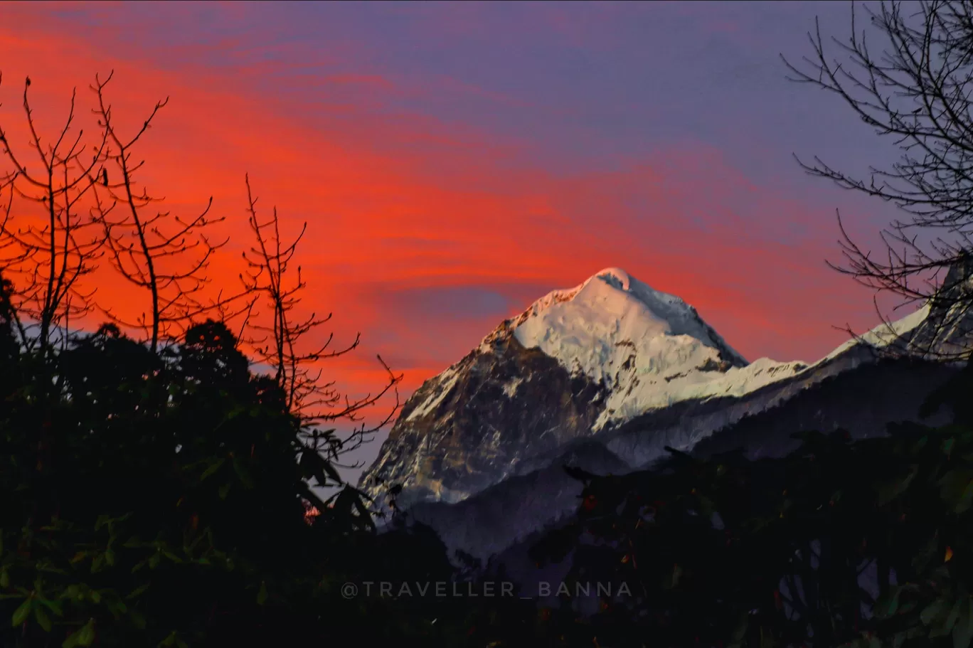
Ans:
POLYGON ((849 16, 846 2, 3 3, 0 124, 26 148, 28 75, 48 130, 73 87, 91 122, 95 73, 114 70, 125 126, 168 96, 142 182, 176 213, 213 197, 231 237, 217 282, 250 244, 245 173, 287 233, 307 223, 305 306, 334 313, 336 344, 362 336, 325 368, 350 394, 380 384, 380 353, 408 396, 607 267, 696 306, 750 360, 813 361, 842 327, 878 323, 871 293, 825 264, 840 261, 836 209, 866 246, 894 216, 793 158, 894 160, 839 99, 785 78, 779 56, 811 54, 815 17, 844 37, 849 16))

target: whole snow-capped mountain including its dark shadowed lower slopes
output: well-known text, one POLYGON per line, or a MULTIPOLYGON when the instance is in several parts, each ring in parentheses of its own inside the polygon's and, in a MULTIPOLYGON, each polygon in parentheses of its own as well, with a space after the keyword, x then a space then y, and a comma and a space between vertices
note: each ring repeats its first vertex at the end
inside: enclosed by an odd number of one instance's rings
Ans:
POLYGON ((916 361, 883 350, 956 342, 953 319, 925 306, 812 365, 747 363, 693 306, 601 270, 502 322, 424 382, 360 487, 383 501, 387 486, 402 486, 396 502, 412 519, 487 558, 574 511, 580 484, 564 464, 617 474, 667 446, 780 453, 800 429, 872 435, 915 419, 954 369, 916 372, 916 361))

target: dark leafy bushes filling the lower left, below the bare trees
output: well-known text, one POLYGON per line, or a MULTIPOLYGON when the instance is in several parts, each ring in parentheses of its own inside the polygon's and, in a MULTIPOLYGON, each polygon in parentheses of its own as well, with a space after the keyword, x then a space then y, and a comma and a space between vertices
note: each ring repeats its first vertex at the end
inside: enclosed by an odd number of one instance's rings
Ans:
POLYGON ((0 289, 0 645, 522 645, 529 603, 420 594, 472 578, 431 530, 316 497, 334 469, 224 324, 41 355, 0 289))

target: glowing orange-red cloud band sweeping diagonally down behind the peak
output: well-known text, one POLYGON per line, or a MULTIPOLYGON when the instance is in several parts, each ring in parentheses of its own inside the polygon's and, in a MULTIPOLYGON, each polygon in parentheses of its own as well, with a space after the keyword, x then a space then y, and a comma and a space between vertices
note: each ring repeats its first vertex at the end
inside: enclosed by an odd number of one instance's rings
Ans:
MULTIPOLYGON (((307 221, 306 306, 335 311, 336 344, 364 334, 361 353, 329 366, 352 394, 381 381, 375 353, 403 361, 394 368, 406 373, 409 391, 500 317, 603 267, 621 266, 698 306, 751 359, 815 359, 841 342, 830 326, 845 322, 809 304, 858 298, 846 279, 824 269, 826 241, 784 227, 813 223, 810 207, 754 186, 701 145, 621 170, 561 177, 520 161, 519 142, 371 110, 382 93, 413 91, 374 74, 313 78, 293 96, 268 95, 255 80, 276 63, 162 69, 123 55, 131 48, 119 43, 110 30, 86 34, 53 18, 42 28, 28 7, 13 5, 0 25, 2 124, 15 143, 24 142, 18 96, 28 74, 46 127, 63 118, 77 85, 82 121, 93 131, 85 89, 94 72, 115 70, 109 95, 129 129, 171 96, 139 154, 148 161, 141 180, 175 213, 193 213, 214 198, 214 213, 227 219, 218 234, 231 236, 212 268, 225 285, 234 284, 239 252, 249 245, 244 173, 260 206, 275 204, 289 233, 307 221), (360 103, 342 100, 343 92, 360 103), (485 287, 509 298, 504 312, 431 321, 390 297, 485 287)), ((133 308, 144 300, 117 278, 98 277, 106 296, 133 308)), ((857 322, 867 310, 845 308, 857 322)))

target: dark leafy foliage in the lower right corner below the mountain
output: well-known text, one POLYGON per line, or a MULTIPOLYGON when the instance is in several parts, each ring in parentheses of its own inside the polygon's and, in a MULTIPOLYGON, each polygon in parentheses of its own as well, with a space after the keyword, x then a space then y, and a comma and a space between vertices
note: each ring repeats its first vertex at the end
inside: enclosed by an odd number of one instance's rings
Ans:
POLYGON ((673 450, 652 472, 577 475, 577 522, 534 554, 573 551, 571 582, 615 595, 584 623, 565 606, 562 645, 970 645, 971 387, 966 369, 930 400, 954 408, 943 428, 802 434, 782 459, 673 450))

